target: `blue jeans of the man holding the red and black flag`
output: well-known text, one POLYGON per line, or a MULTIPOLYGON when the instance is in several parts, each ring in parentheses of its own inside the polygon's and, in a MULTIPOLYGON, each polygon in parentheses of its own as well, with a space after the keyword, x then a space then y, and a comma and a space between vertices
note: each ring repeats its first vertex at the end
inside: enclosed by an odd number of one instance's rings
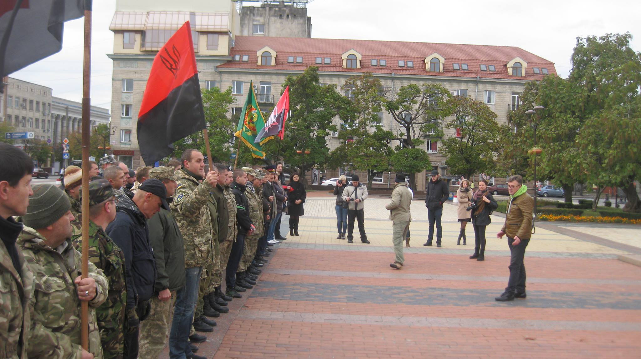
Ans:
POLYGON ((185 287, 176 292, 174 319, 169 331, 169 358, 171 359, 187 359, 193 354, 188 339, 192 321, 194 321, 202 272, 203 267, 185 268, 185 287))

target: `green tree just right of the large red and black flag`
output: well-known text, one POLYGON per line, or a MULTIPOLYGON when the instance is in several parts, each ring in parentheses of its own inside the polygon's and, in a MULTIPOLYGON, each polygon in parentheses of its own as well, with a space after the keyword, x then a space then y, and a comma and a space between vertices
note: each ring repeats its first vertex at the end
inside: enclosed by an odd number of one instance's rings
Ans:
MULTIPOLYGON (((228 116, 229 106, 235 102, 231 95, 231 87, 222 91, 220 88, 212 90, 202 89, 204 119, 207 125, 207 134, 209 136, 210 150, 212 151, 211 163, 229 161, 232 147, 231 138, 236 131, 236 124, 228 116)), ((238 118, 238 115, 236 115, 238 118)), ((204 143, 203 131, 196 132, 181 140, 174 142, 173 157, 180 157, 187 148, 196 148, 207 156, 206 145, 204 143)))

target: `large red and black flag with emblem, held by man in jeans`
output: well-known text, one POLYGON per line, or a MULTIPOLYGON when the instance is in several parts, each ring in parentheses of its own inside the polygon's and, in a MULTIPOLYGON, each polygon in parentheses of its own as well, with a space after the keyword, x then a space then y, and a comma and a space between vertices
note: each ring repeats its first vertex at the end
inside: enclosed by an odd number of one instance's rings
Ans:
POLYGON ((138 113, 138 146, 145 163, 174 152, 173 143, 205 129, 203 98, 189 22, 154 58, 138 113))

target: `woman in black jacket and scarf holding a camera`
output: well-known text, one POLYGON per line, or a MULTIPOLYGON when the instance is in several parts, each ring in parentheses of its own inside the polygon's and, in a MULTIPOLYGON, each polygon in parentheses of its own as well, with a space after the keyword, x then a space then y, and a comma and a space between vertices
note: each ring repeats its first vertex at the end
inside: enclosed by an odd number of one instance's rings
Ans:
POLYGON ((478 186, 479 189, 474 192, 470 205, 466 209, 471 212, 475 237, 474 254, 470 255, 470 259, 481 261, 485 260, 485 227, 492 223, 490 214, 499 205, 487 190, 487 180, 479 180, 478 186))

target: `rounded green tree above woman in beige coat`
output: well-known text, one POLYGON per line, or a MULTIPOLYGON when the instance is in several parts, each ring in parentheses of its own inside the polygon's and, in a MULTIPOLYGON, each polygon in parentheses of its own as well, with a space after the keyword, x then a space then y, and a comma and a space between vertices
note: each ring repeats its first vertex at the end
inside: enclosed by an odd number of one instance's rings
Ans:
POLYGON ((465 96, 447 101, 453 119, 447 129, 459 129, 460 137, 449 137, 441 147, 451 172, 471 178, 474 173, 493 172, 494 158, 501 154, 501 127, 496 114, 486 104, 465 96))

